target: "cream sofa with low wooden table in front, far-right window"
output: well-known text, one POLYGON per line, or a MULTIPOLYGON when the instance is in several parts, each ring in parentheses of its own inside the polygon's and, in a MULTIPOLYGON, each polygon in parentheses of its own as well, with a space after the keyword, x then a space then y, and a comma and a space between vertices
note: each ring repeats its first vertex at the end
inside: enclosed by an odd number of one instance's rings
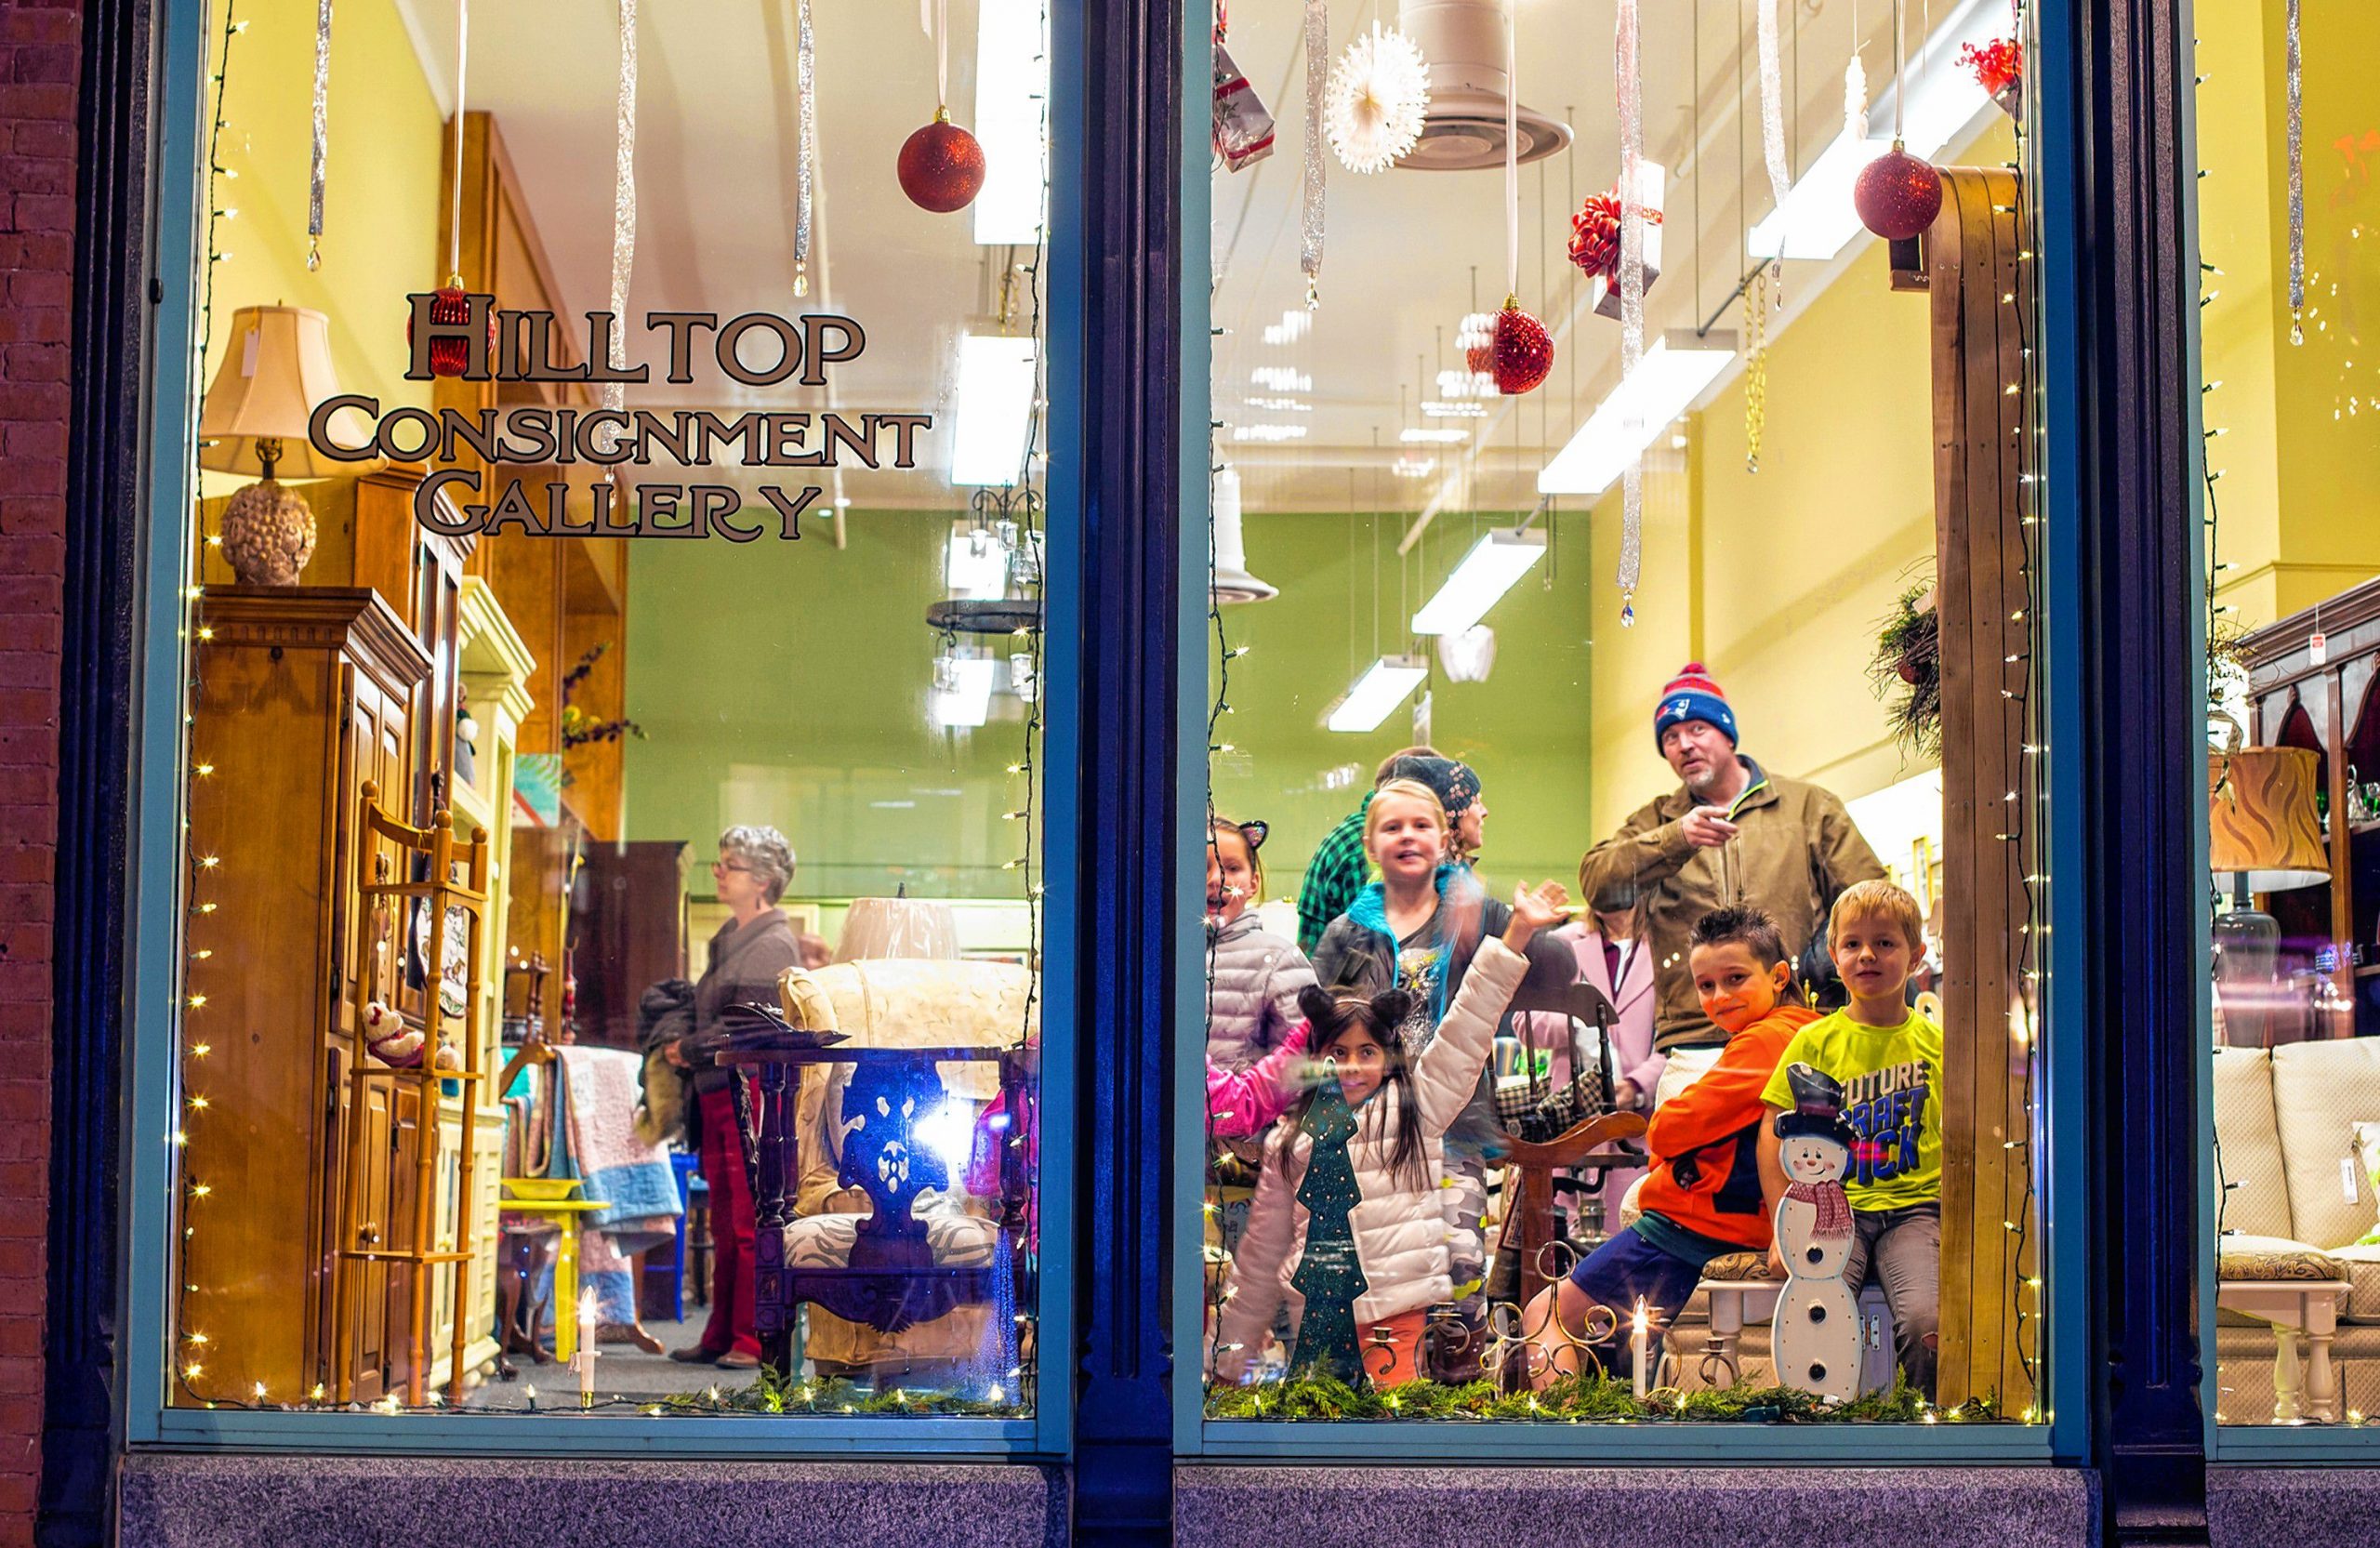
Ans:
POLYGON ((2380 1391, 2380 1226, 2356 1124, 2380 1124, 2380 1038, 2216 1050, 2216 1412, 2340 1419, 2380 1391))

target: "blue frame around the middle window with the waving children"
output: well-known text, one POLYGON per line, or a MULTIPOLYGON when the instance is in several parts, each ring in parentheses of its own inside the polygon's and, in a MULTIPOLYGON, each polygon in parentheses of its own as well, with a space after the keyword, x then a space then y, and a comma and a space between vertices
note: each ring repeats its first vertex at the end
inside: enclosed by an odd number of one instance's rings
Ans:
MULTIPOLYGON (((2040 81, 2066 81, 2075 62, 2066 57, 2066 14, 2073 0, 2037 0, 2042 14, 2040 81)), ((1209 36, 1211 0, 1192 0, 1183 19, 1183 81, 1211 74, 1209 36)), ((1180 207, 1183 207, 1183 412, 1180 412, 1180 510, 1185 598, 1207 591, 1207 433, 1211 402, 1211 312, 1207 281, 1211 274, 1209 212, 1209 126, 1202 93, 1183 93, 1188 112, 1180 124, 1180 207)), ((2063 93, 2044 93, 2040 145, 2028 176, 2037 186, 2037 262, 2044 341, 2075 338, 2073 231, 2075 198, 2068 148, 2080 126, 2063 93)), ((2078 1465, 2090 1443, 2085 1350, 2087 1253, 2082 1234, 2082 1091, 2085 1062, 2080 1041, 2080 936, 2075 924, 2075 888, 2054 884, 2059 855, 2080 845, 2085 791, 2078 760, 2056 760, 2059 741, 2075 745, 2080 607, 2075 581, 2080 557, 2080 503, 2071 476, 2080 374, 2073 348, 2047 350, 2042 379, 2044 417, 2044 488, 2047 526, 2042 543, 2044 576, 2044 755, 2042 784, 2049 793, 2049 853, 2044 917, 2052 948, 2042 976, 2042 1365, 2047 1372, 2044 1424, 1480 1424, 1480 1422, 1252 1422, 1209 1419, 1200 1379, 1200 1334, 1204 1324, 1204 1267, 1197 1231, 1204 1205, 1204 824, 1207 824, 1207 610, 1180 610, 1180 791, 1176 850, 1176 1026, 1183 1036, 1171 1050, 1173 1062, 1173 1448, 1176 1455, 1207 1462, 1319 1462, 1319 1460, 1395 1460, 1395 1462, 1595 1462, 1595 1465, 1809 1465, 1840 1467, 1861 1462, 1949 1462, 1949 1465, 2078 1465), (2063 1036, 2059 1029, 2066 1029, 2063 1036), (2061 1157, 2071 1157, 2063 1160, 2061 1157)), ((2211 1272, 2211 1269, 2209 1269, 2211 1272)), ((2211 1343, 2209 1343, 2211 1348, 2211 1343)))

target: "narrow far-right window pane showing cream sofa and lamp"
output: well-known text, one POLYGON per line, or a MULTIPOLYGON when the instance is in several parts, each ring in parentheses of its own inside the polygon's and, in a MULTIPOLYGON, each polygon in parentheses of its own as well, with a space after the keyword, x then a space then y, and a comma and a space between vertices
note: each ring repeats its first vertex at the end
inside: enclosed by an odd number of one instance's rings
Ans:
POLYGON ((2202 5, 2211 1150, 2209 1407, 2380 1405, 2380 283, 2363 10, 2202 5))

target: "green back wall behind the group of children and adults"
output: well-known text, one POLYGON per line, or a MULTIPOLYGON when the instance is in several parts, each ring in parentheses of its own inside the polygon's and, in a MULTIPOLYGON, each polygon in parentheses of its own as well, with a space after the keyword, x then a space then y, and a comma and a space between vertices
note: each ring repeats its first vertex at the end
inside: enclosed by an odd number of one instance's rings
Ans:
MULTIPOLYGON (((1504 512, 1499 522, 1511 522, 1504 512)), ((1409 707, 1378 731, 1326 731, 1323 712, 1376 655, 1407 645, 1404 619, 1490 522, 1442 514, 1399 567, 1411 512, 1385 517, 1250 514, 1247 567, 1280 588, 1271 603, 1223 610, 1226 638, 1250 653, 1230 662, 1230 707, 1216 729, 1235 753, 1216 757, 1216 810, 1273 824, 1266 895, 1295 898, 1316 841, 1354 810, 1376 764, 1411 743, 1409 707), (1378 648, 1373 553, 1378 550, 1378 648), (1349 581, 1354 600, 1349 607, 1349 581)), ((1583 517, 1559 517, 1554 545, 1488 614, 1497 631, 1485 684, 1447 681, 1433 653, 1433 743, 1471 762, 1488 800, 1480 872, 1518 879, 1578 876, 1587 845, 1587 567, 1583 517)))

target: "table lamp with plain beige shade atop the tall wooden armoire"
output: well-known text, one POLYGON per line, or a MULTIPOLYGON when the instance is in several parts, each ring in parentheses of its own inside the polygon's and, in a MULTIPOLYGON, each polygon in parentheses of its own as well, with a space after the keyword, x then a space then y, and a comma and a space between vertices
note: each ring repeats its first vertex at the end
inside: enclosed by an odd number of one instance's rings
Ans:
MULTIPOLYGON (((338 398, 331 369, 331 319, 312 307, 240 307, 231 314, 224 369, 198 417, 198 464, 219 474, 259 474, 224 507, 224 560, 243 586, 295 586, 314 555, 314 512, 281 479, 364 474, 381 464, 326 457, 307 422, 338 398)), ((371 422, 343 407, 331 417, 336 445, 367 445, 371 422)))

